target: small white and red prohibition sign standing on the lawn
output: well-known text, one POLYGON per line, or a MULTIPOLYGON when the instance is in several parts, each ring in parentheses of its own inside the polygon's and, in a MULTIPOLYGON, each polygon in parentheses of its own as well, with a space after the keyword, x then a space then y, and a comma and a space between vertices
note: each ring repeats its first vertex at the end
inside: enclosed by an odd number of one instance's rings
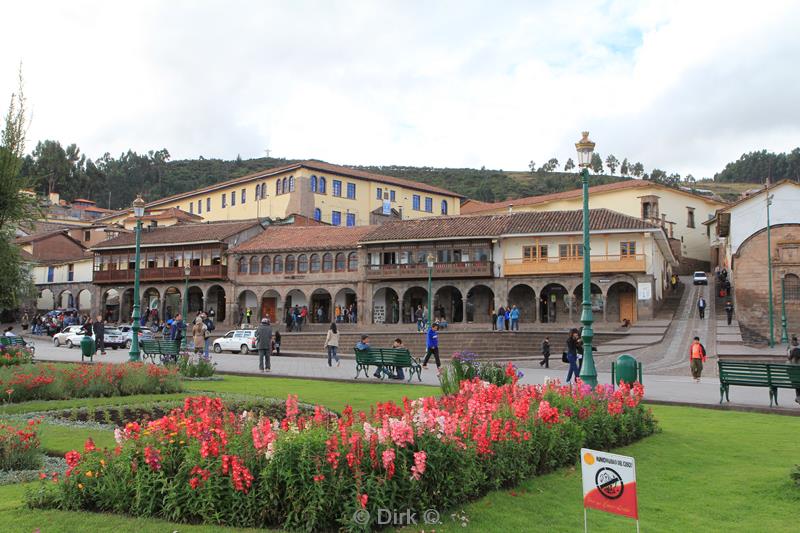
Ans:
POLYGON ((639 519, 633 457, 581 449, 583 507, 639 519))

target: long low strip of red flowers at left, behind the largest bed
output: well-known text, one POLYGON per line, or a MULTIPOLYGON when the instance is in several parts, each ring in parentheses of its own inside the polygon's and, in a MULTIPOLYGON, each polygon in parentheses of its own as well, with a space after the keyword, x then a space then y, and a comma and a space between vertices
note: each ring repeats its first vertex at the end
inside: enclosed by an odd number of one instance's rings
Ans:
POLYGON ((180 390, 176 369, 144 363, 37 364, 0 368, 0 391, 8 402, 161 394, 180 390))

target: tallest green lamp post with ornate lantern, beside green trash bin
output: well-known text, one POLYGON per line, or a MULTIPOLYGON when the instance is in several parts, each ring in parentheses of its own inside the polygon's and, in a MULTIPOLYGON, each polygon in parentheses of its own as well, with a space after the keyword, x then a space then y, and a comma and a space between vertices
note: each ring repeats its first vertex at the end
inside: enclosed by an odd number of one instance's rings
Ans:
POLYGON ((591 387, 597 386, 597 370, 592 357, 592 263, 589 243, 589 166, 592 164, 594 143, 589 140, 589 132, 584 131, 581 140, 575 143, 578 151, 578 166, 581 167, 581 183, 583 183, 583 310, 581 324, 583 331, 583 366, 581 380, 591 387))

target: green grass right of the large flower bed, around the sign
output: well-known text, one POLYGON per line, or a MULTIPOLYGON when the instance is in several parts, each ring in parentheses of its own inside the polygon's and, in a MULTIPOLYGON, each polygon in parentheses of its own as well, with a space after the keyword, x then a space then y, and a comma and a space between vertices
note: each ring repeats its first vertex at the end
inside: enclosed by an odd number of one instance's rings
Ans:
MULTIPOLYGON (((615 450, 636 458, 643 531, 797 531, 800 418, 654 406, 663 432, 615 450)), ((579 468, 532 479, 444 516, 437 532, 581 531, 579 468)), ((589 511, 593 532, 634 531, 631 519, 589 511)), ((409 532, 412 529, 407 529, 409 532)), ((414 529, 413 531, 416 531, 414 529)))

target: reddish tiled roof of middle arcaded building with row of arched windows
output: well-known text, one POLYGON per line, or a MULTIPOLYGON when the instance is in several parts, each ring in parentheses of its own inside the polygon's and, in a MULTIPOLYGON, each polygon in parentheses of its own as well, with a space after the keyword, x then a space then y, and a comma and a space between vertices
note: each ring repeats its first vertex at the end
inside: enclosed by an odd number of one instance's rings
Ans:
POLYGON ((231 253, 352 249, 375 226, 269 226, 231 253))

